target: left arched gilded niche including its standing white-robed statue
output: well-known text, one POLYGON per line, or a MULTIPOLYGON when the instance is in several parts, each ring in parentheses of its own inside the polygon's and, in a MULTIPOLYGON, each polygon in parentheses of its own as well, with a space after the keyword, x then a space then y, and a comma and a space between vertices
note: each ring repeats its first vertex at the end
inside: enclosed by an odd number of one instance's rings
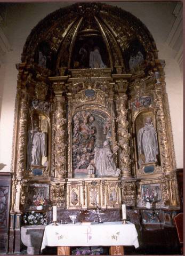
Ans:
POLYGON ((30 109, 27 134, 26 174, 31 177, 49 178, 51 125, 50 118, 44 111, 30 109))

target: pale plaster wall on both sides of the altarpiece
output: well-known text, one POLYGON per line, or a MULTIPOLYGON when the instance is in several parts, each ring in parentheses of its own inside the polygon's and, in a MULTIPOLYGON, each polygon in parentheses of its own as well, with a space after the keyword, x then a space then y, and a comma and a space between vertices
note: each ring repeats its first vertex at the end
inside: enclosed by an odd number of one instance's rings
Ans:
MULTIPOLYGON (((70 3, 21 3, 9 4, 2 27, 12 51, 7 51, 0 67, 0 170, 9 172, 11 166, 14 100, 23 45, 31 29, 45 16, 70 3), (1 164, 5 166, 2 168, 1 164)), ((110 3, 109 3, 110 4, 110 3)), ((166 89, 170 103, 177 167, 183 167, 183 81, 173 50, 166 45, 166 38, 175 21, 172 14, 174 2, 124 2, 112 3, 132 12, 150 30, 159 50, 159 58, 165 59, 166 89)), ((0 5, 1 10, 1 5, 0 5)), ((0 12, 1 14, 1 12, 0 12)), ((0 45, 1 46, 1 45, 0 45)), ((1 58, 2 57, 2 58, 1 58)))

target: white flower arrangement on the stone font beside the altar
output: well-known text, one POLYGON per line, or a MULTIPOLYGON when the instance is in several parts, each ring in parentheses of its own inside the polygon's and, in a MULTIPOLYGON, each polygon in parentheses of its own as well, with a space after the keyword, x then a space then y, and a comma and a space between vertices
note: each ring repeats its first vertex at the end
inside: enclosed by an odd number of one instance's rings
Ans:
POLYGON ((27 212, 25 215, 23 215, 23 222, 26 225, 45 225, 46 220, 46 214, 44 213, 36 213, 34 211, 27 212))

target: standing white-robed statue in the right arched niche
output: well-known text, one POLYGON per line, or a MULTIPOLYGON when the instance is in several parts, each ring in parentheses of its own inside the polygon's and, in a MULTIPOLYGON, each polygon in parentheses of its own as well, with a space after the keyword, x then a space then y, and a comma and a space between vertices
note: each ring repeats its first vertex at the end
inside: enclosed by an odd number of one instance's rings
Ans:
POLYGON ((145 126, 138 132, 138 151, 140 154, 144 154, 145 163, 154 163, 157 161, 157 132, 151 117, 146 118, 145 126))

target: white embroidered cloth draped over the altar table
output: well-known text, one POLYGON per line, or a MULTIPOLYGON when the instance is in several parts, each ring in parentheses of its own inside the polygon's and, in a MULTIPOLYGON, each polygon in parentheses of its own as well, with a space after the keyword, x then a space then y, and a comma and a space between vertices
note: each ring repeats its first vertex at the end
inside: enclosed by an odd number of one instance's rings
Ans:
POLYGON ((131 222, 104 222, 95 225, 72 223, 46 226, 41 251, 46 246, 116 246, 139 247, 138 233, 131 222))

